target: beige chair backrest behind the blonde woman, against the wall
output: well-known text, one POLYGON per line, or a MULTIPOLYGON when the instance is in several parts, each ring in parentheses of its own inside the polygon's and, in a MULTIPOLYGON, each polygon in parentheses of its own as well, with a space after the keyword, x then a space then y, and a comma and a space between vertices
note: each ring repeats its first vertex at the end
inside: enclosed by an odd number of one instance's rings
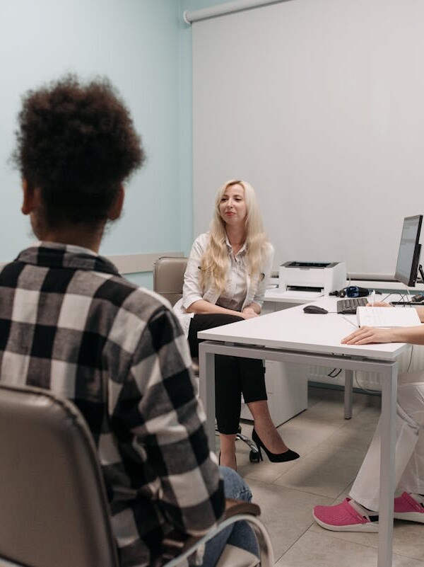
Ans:
POLYGON ((171 305, 182 297, 184 272, 188 258, 162 256, 155 261, 153 268, 153 290, 163 295, 171 305))

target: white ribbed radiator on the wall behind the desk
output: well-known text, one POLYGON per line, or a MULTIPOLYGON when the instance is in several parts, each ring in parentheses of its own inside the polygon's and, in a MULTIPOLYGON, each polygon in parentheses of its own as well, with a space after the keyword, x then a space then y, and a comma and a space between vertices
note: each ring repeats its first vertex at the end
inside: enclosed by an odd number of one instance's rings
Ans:
MULTIPOLYGON (((399 357, 399 374, 408 370, 423 370, 424 372, 424 346, 413 345, 406 353, 399 357)), ((307 375, 312 382, 323 382, 326 384, 344 384, 344 372, 337 374, 337 368, 322 366, 298 366, 293 365, 292 372, 298 372, 299 376, 307 375), (330 375, 329 375, 330 374, 330 375), (335 376, 337 374, 337 376, 335 376)), ((355 372, 353 387, 365 390, 381 390, 379 374, 376 372, 355 372)))

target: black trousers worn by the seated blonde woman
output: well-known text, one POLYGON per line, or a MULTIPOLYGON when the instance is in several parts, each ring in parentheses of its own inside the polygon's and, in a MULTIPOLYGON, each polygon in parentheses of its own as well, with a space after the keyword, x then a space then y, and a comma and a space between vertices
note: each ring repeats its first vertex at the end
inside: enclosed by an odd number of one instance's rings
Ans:
MULTIPOLYGON (((220 313, 194 315, 189 327, 189 345, 193 357, 199 356, 199 331, 242 321, 237 315, 220 313)), ((218 431, 237 433, 242 407, 246 403, 266 400, 265 370, 262 360, 215 355, 215 406, 218 431)))

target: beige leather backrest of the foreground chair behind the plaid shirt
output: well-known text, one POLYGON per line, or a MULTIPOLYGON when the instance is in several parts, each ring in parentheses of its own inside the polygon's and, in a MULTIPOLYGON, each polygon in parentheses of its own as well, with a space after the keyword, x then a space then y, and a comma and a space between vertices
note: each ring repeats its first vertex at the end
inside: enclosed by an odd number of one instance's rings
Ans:
POLYGON ((117 567, 102 471, 75 406, 0 385, 0 563, 117 567))

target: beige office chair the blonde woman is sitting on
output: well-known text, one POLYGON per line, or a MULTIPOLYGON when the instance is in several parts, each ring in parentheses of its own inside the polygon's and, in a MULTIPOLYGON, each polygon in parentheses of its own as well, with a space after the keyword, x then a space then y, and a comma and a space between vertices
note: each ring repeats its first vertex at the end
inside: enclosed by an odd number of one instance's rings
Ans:
MULTIPOLYGON (((184 273, 187 267, 188 258, 174 258, 172 256, 162 256, 155 261, 153 268, 153 290, 163 295, 171 305, 175 305, 182 297, 182 286, 184 284, 184 273)), ((199 376, 199 360, 193 360, 193 372, 199 376)), ((218 435, 218 432, 216 432, 218 435)), ((249 459, 252 463, 259 463, 259 451, 252 439, 242 434, 242 429, 236 435, 249 447, 249 459)))

